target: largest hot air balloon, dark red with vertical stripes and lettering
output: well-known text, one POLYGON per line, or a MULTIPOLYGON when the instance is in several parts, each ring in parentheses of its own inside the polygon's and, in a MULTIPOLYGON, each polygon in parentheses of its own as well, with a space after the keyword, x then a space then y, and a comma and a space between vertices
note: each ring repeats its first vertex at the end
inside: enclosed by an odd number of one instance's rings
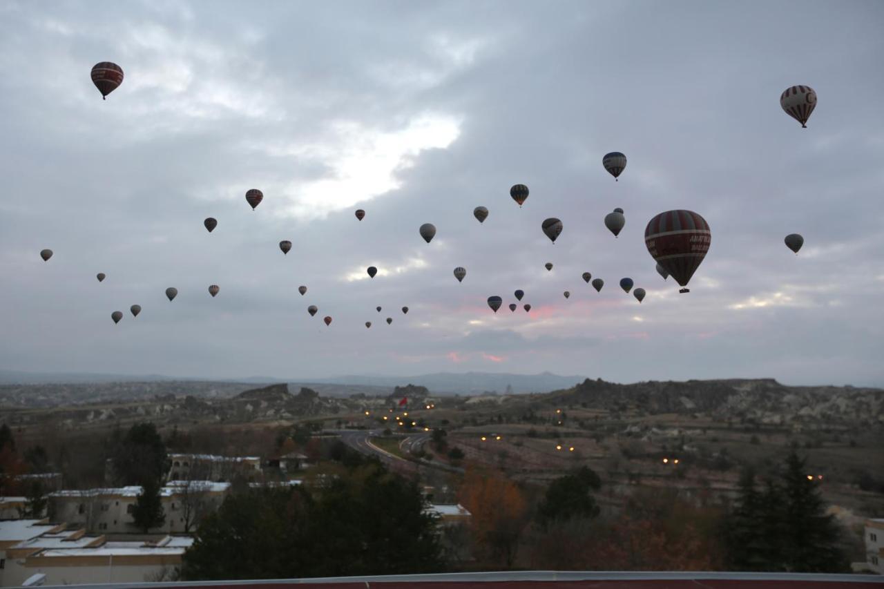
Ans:
POLYGON ((648 253, 682 286, 680 293, 689 292, 685 287, 711 242, 709 224, 691 210, 661 212, 644 229, 648 253))

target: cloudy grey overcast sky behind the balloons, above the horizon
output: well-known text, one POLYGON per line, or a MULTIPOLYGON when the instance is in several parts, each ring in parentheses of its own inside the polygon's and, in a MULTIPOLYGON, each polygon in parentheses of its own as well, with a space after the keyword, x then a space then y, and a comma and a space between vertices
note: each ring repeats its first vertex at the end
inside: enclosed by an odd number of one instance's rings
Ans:
POLYGON ((0 368, 882 386, 881 31, 877 0, 6 0, 0 368), (103 102, 105 60, 126 79, 103 102), (793 84, 819 96, 807 129, 793 84), (713 232, 687 295, 644 247, 682 208, 713 232))

